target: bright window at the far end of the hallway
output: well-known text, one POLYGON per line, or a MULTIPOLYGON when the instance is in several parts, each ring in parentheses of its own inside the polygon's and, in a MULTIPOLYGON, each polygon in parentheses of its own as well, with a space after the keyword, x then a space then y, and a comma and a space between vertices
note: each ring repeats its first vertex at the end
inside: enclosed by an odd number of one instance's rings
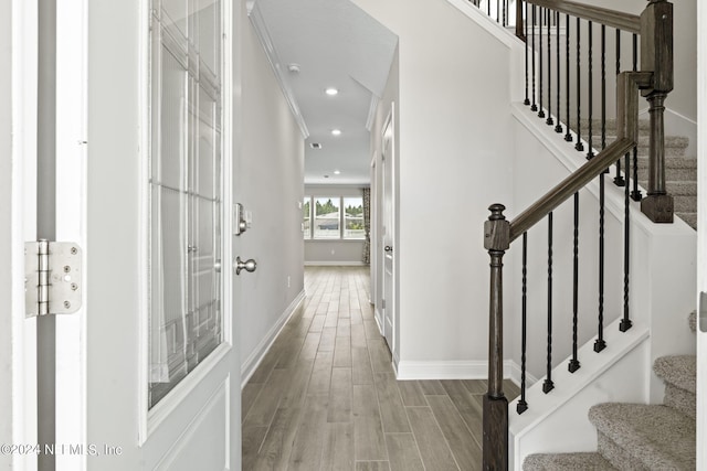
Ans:
POLYGON ((362 196, 305 196, 305 239, 365 239, 362 196))

